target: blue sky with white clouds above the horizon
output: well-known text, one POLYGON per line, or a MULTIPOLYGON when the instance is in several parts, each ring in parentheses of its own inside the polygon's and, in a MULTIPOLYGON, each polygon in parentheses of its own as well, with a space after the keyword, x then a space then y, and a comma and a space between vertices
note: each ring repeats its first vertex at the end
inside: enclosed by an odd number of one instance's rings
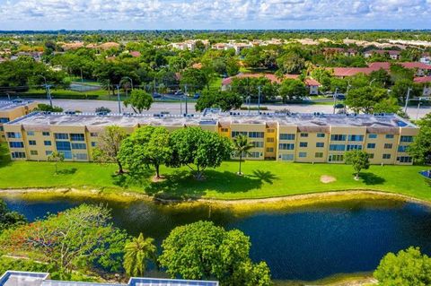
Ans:
POLYGON ((0 30, 431 29, 431 0, 0 0, 0 30))

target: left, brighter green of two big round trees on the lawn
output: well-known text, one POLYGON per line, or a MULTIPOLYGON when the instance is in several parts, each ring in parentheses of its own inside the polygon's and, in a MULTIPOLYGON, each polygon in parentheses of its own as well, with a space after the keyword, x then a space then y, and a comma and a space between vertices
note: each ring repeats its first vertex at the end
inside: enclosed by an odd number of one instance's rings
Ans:
POLYGON ((121 144, 119 160, 132 173, 140 173, 153 165, 155 177, 160 178, 160 165, 172 156, 171 135, 164 127, 145 126, 136 129, 121 144))

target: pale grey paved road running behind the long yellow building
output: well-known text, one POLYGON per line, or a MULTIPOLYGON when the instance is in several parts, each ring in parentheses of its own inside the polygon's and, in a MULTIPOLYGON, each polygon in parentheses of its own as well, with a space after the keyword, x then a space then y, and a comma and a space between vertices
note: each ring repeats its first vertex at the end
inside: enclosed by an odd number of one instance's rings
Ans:
MULTIPOLYGON (((37 100, 42 103, 47 103, 48 100, 37 100)), ((110 108, 112 112, 118 112, 119 104, 117 101, 110 100, 53 100, 54 105, 64 108, 65 110, 80 110, 82 112, 94 112, 96 108, 105 107, 110 108)), ((268 105, 269 110, 281 110, 288 109, 292 112, 300 113, 332 113, 331 105, 317 105, 317 104, 286 104, 286 105, 268 105)), ((172 114, 180 114, 180 110, 185 112, 185 104, 182 105, 179 102, 154 102, 149 112, 160 113, 161 111, 169 111, 172 114)), ((121 105, 122 112, 133 112, 131 108, 126 108, 121 105)), ((195 103, 189 102, 188 104, 189 113, 197 113, 195 111, 195 103)), ((412 119, 424 117, 427 113, 431 112, 431 107, 422 108, 408 108, 407 113, 412 119)))

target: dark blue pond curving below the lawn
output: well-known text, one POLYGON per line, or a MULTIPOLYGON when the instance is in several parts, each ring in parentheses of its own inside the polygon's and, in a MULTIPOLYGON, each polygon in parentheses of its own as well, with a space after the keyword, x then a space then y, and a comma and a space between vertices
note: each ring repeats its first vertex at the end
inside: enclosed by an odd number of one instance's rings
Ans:
MULTIPOLYGON (((84 200, 24 200, 6 204, 30 221, 84 200)), ((274 279, 313 281, 336 273, 370 272, 387 252, 417 246, 431 254, 431 209, 422 204, 363 200, 314 204, 277 211, 234 213, 201 205, 184 208, 148 202, 107 204, 114 223, 136 235, 143 232, 160 244, 176 226, 199 220, 239 229, 251 237, 251 257, 265 260, 274 279)))

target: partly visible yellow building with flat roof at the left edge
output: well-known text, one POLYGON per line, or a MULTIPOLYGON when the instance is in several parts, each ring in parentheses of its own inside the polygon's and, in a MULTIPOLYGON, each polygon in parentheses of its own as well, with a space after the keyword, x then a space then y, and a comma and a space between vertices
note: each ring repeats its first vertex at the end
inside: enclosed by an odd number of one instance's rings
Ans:
POLYGON ((0 100, 0 143, 5 141, 4 123, 29 114, 38 104, 34 101, 0 100))

